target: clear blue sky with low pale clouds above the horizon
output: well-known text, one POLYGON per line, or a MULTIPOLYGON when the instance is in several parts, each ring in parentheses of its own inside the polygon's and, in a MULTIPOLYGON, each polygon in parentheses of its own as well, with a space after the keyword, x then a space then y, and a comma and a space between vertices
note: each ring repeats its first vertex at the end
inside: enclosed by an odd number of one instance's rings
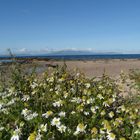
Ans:
POLYGON ((140 0, 0 0, 0 53, 140 53, 140 0))

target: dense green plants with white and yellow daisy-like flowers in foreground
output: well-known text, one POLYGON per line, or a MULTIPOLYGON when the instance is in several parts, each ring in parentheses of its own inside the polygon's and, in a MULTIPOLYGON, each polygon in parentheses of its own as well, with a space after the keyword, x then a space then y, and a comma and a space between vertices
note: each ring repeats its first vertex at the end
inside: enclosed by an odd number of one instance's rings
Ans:
POLYGON ((10 69, 0 87, 0 139, 139 140, 140 108, 121 95, 129 90, 132 97, 139 83, 128 85, 125 75, 88 79, 64 66, 40 78, 10 69))

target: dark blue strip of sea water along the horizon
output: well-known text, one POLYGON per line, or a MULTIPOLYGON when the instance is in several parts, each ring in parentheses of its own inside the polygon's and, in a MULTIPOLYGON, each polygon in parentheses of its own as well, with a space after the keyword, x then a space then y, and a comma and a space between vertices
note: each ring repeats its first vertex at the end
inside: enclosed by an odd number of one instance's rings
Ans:
MULTIPOLYGON (((41 58, 55 60, 94 60, 94 59, 140 59, 140 54, 94 54, 94 55, 28 55, 16 58, 41 58)), ((0 62, 11 62, 8 56, 0 56, 0 62)))

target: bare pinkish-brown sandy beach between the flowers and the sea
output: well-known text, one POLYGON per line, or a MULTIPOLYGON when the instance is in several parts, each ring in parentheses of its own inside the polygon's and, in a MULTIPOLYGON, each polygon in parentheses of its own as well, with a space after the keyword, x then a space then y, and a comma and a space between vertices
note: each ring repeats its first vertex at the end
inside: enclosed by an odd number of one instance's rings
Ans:
MULTIPOLYGON (((139 59, 109 59, 109 60, 88 60, 88 61, 65 61, 69 70, 78 68, 87 77, 100 77, 104 72, 111 76, 118 76, 121 71, 129 73, 131 69, 140 69, 139 59)), ((63 65, 64 61, 40 61, 39 64, 63 65)), ((46 67, 47 68, 47 67, 46 67)))

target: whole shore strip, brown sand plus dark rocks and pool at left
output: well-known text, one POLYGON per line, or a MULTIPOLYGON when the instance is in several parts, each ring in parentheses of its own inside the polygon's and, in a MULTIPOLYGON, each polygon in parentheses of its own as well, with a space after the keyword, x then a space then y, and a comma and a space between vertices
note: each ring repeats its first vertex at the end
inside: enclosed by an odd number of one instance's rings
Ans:
MULTIPOLYGON (((69 71, 78 69, 84 73, 87 77, 100 77, 102 74, 106 74, 111 77, 117 77, 121 71, 129 74, 130 70, 140 70, 140 59, 94 59, 94 60, 47 60, 47 59, 33 59, 33 60, 20 60, 16 61, 25 67, 37 66, 38 73, 42 73, 48 70, 49 67, 55 68, 57 66, 67 65, 69 71)), ((0 63, 0 66, 6 66, 12 64, 0 63)))

